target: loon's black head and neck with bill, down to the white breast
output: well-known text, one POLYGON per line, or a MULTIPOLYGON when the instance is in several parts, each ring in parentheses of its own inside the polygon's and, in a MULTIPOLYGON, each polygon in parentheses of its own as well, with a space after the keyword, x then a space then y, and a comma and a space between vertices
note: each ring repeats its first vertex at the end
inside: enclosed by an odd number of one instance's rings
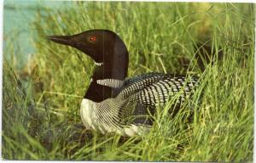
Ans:
POLYGON ((77 48, 98 63, 84 98, 101 102, 119 93, 116 88, 97 83, 104 79, 124 81, 127 76, 128 51, 125 43, 116 33, 108 30, 90 30, 73 36, 50 36, 48 38, 53 42, 77 48))

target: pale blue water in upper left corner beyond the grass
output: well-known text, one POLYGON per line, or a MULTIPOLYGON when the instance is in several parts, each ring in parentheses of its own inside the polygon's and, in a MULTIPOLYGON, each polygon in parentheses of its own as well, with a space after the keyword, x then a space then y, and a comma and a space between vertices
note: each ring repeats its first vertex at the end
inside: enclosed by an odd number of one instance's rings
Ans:
MULTIPOLYGON (((37 14, 37 8, 61 8, 67 2, 61 1, 32 1, 32 0, 6 0, 3 7, 3 48, 7 43, 15 49, 15 57, 20 65, 27 63, 35 52, 32 45, 35 31, 32 21, 37 14)), ((43 12, 43 11, 42 11, 43 12)), ((9 53, 4 53, 10 59, 9 53)))

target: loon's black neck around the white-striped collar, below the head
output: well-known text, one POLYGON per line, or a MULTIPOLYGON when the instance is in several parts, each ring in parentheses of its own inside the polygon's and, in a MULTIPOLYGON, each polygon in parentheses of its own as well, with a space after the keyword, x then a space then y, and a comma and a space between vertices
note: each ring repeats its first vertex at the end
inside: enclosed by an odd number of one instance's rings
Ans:
POLYGON ((118 88, 97 83, 98 80, 103 79, 125 81, 129 63, 128 51, 125 48, 125 44, 123 47, 119 45, 115 47, 117 48, 111 48, 104 53, 106 57, 104 57, 102 63, 96 64, 90 87, 87 89, 84 98, 98 103, 107 98, 114 98, 119 93, 120 90, 118 88), (112 55, 109 55, 109 53, 112 53, 112 55))

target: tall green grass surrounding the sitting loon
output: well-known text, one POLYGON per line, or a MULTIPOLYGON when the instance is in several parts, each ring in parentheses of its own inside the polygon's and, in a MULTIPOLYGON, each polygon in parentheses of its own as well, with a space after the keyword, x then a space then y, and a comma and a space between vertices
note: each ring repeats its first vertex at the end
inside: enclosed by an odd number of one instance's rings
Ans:
MULTIPOLYGON (((17 70, 4 62, 4 159, 253 160, 253 4, 69 2, 66 8, 42 8, 32 25, 38 33, 37 52, 27 70, 26 93, 18 87, 17 70), (46 36, 94 28, 123 38, 130 52, 129 76, 150 71, 199 74, 201 86, 175 117, 159 109, 143 137, 86 130, 79 104, 93 62, 46 36), (212 53, 224 53, 221 59, 212 55, 204 71, 195 60, 199 42, 207 43, 212 53), (188 123, 184 117, 189 110, 195 112, 188 123)), ((9 53, 6 48, 4 54, 9 53)))

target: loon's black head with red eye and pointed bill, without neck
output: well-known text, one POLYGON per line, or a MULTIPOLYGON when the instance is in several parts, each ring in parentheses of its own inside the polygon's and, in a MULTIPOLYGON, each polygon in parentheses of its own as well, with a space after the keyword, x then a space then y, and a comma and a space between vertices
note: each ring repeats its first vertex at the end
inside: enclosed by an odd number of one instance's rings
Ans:
POLYGON ((77 48, 89 55, 96 63, 112 63, 123 59, 128 63, 125 43, 113 31, 90 30, 73 36, 50 36, 49 40, 77 48))

